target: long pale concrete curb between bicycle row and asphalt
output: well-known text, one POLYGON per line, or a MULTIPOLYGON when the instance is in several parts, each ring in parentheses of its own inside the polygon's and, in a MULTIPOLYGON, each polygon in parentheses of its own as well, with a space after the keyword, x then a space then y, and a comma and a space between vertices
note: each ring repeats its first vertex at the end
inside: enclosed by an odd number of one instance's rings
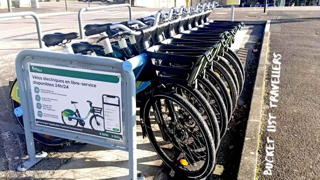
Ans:
POLYGON ((265 30, 262 40, 259 65, 254 82, 248 123, 246 127, 244 145, 241 154, 238 180, 255 180, 258 163, 258 148, 260 134, 260 119, 262 115, 263 86, 266 73, 266 60, 268 58, 268 45, 270 38, 270 20, 265 20, 265 30))

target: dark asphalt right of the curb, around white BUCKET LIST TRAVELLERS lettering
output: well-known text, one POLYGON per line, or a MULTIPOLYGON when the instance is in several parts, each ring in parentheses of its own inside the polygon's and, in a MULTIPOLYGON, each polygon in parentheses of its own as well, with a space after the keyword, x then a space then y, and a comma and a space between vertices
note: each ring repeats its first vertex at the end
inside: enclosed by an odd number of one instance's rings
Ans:
POLYGON ((269 11, 268 14, 277 20, 272 20, 270 26, 259 180, 320 179, 319 10, 305 8, 305 11, 269 11), (279 102, 274 103, 278 107, 270 108, 273 53, 281 54, 282 58, 276 98, 279 102), (276 132, 267 131, 268 113, 276 117, 276 132), (267 137, 275 141, 272 175, 263 175, 267 137))

